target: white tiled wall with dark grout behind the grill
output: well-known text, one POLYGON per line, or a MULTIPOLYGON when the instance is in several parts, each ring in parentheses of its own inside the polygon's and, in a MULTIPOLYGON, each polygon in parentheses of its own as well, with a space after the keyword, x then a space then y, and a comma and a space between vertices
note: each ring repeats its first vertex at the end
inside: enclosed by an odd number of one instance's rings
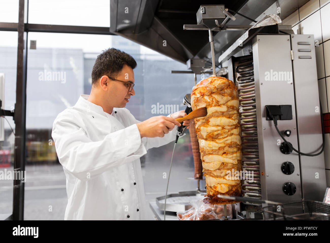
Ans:
MULTIPOLYGON (((323 114, 330 112, 330 0, 310 0, 282 20, 282 24, 292 25, 296 34, 313 34, 318 40, 315 47, 318 90, 323 114)), ((324 159, 327 186, 330 186, 329 133, 325 134, 324 159)))

